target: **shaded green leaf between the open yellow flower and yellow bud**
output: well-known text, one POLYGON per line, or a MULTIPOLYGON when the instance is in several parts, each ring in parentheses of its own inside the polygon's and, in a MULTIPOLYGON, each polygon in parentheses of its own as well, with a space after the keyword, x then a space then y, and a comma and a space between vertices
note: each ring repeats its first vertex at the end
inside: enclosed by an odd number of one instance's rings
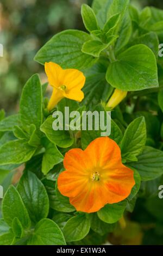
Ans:
POLYGON ((92 68, 84 71, 86 83, 83 88, 84 105, 94 108, 101 100, 106 101, 112 93, 112 87, 105 80, 106 70, 108 68, 108 60, 99 59, 92 68))

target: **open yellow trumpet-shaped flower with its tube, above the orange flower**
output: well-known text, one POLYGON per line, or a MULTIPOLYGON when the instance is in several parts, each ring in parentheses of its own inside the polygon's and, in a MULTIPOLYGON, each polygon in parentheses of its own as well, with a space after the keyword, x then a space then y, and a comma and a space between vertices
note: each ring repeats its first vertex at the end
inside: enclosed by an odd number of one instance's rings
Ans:
POLYGON ((79 102, 83 100, 84 93, 81 89, 85 84, 85 76, 82 72, 77 69, 62 69, 53 62, 45 63, 45 72, 49 84, 53 87, 53 93, 48 103, 49 111, 64 97, 79 102))

